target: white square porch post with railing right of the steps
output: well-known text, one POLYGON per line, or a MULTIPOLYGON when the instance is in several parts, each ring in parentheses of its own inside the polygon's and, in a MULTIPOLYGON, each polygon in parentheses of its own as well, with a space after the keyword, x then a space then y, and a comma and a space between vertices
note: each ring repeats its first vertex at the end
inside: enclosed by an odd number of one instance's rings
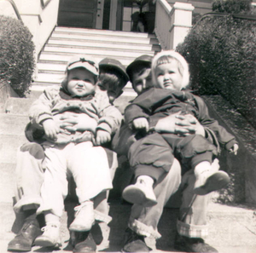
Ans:
POLYGON ((182 43, 192 27, 190 3, 175 3, 173 7, 166 0, 156 1, 154 32, 162 49, 175 49, 182 43))

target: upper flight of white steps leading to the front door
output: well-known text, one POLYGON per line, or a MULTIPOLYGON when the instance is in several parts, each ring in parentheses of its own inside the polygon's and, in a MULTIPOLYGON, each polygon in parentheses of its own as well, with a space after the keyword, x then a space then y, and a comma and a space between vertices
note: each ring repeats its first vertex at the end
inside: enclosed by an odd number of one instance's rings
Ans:
MULTIPOLYGON (((154 34, 56 26, 39 56, 38 73, 28 97, 37 97, 47 86, 59 85, 72 55, 90 55, 98 61, 110 57, 128 66, 140 55, 154 55, 159 51, 160 44, 154 34)), ((130 82, 124 91, 123 95, 135 95, 130 82)))

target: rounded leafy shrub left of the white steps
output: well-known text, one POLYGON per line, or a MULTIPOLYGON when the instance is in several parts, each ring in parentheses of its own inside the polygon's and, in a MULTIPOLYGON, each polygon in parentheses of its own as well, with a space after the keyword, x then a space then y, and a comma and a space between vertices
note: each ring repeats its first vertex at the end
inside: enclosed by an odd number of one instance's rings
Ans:
POLYGON ((0 15, 0 80, 24 97, 35 67, 32 34, 20 20, 0 15))

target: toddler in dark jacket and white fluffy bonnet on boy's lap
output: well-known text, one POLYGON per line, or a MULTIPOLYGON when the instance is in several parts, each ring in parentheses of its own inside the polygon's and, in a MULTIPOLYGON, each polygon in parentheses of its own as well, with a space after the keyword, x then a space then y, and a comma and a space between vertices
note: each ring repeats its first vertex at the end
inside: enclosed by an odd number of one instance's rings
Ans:
POLYGON ((144 132, 145 136, 129 150, 128 157, 135 170, 137 183, 125 188, 123 198, 133 204, 156 204, 153 185, 170 170, 174 157, 182 164, 183 170, 192 168, 195 171, 196 194, 206 195, 225 187, 230 181, 229 175, 224 171, 211 170, 218 148, 205 136, 156 133, 154 127, 151 127, 160 118, 174 113, 193 115, 202 126, 218 136, 218 143, 236 153, 238 145, 235 137, 210 118, 207 105, 199 96, 185 90, 189 85, 189 66, 186 60, 173 50, 162 51, 154 56, 152 79, 156 88, 139 95, 125 109, 125 123, 131 129, 144 132), (170 152, 166 152, 165 160, 160 161, 158 154, 166 144, 170 146, 170 152))

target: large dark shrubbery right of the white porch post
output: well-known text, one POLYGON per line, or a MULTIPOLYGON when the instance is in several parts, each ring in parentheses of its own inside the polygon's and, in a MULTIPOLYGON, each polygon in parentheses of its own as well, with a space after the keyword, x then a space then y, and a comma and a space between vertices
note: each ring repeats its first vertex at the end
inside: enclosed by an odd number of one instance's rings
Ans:
MULTIPOLYGON (((231 13, 237 13, 240 6, 245 14, 250 11, 246 2, 251 1, 218 0, 213 6, 231 13), (231 3, 236 3, 236 8, 231 3)), ((192 89, 199 95, 222 95, 256 125, 256 20, 232 14, 207 16, 177 51, 189 62, 192 89)))

